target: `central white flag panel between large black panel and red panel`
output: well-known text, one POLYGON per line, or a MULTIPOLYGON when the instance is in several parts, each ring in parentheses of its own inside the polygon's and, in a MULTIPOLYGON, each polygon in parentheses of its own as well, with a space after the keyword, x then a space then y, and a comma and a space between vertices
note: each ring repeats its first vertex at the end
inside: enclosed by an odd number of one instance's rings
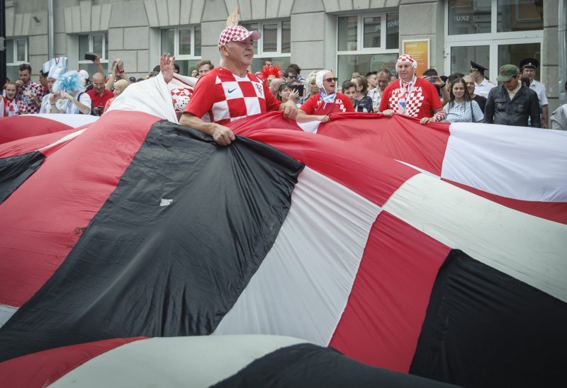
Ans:
POLYGON ((327 346, 380 211, 305 167, 274 246, 214 334, 269 333, 327 346))

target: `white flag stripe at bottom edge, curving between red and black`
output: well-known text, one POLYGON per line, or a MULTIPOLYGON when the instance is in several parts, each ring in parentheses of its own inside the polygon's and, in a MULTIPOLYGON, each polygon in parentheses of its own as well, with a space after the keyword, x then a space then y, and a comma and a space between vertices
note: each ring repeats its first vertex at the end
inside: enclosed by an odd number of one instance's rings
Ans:
POLYGON ((278 336, 148 338, 92 358, 50 387, 209 387, 305 341, 278 336))

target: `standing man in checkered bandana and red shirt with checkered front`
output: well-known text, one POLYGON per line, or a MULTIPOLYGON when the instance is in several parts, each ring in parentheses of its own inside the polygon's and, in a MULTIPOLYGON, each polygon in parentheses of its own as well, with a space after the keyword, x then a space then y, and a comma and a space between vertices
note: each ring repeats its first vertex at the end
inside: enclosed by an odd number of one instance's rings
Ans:
POLYGON ((395 68, 400 79, 383 91, 378 110, 385 116, 394 113, 420 119, 420 123, 442 121, 444 113, 435 86, 415 76, 417 62, 410 55, 401 55, 395 68))

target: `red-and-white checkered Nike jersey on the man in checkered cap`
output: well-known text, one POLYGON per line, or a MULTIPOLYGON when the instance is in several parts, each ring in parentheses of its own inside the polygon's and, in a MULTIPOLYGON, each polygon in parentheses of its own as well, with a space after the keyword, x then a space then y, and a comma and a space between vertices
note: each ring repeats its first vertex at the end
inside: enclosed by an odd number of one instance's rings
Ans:
POLYGON ((222 125, 257 113, 278 110, 280 105, 281 102, 254 74, 240 77, 224 67, 215 67, 197 81, 184 112, 222 125), (264 91, 267 93, 264 94, 264 91))

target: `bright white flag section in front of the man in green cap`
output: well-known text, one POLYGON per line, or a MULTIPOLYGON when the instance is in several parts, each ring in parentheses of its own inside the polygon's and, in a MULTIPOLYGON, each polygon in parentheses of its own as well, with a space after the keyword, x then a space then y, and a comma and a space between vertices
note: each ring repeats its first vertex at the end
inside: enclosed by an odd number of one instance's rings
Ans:
POLYGON ((451 124, 442 178, 527 201, 567 201, 567 132, 451 124))

